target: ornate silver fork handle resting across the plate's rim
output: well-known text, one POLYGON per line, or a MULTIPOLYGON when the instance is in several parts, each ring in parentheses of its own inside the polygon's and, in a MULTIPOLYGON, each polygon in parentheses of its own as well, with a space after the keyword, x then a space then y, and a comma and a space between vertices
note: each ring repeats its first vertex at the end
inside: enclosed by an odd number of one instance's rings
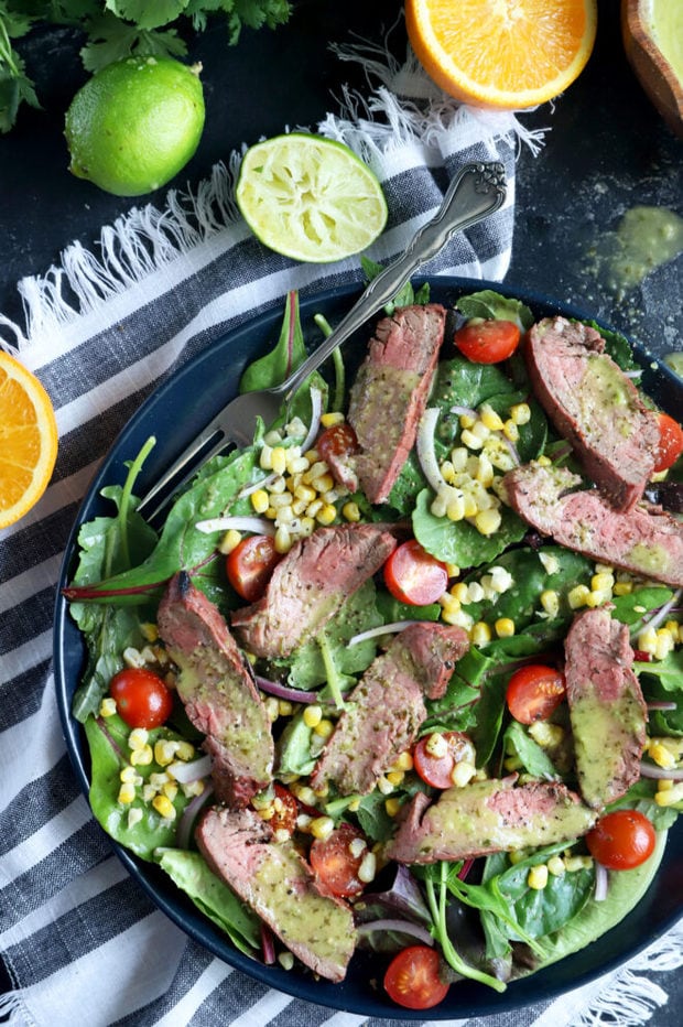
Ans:
POLYGON ((465 164, 451 182, 434 217, 418 229, 403 253, 370 282, 332 335, 280 387, 279 391, 282 391, 285 401, 327 359, 333 349, 393 299, 415 271, 435 257, 456 231, 464 231, 494 214, 502 206, 505 198, 505 169, 500 162, 465 164))

